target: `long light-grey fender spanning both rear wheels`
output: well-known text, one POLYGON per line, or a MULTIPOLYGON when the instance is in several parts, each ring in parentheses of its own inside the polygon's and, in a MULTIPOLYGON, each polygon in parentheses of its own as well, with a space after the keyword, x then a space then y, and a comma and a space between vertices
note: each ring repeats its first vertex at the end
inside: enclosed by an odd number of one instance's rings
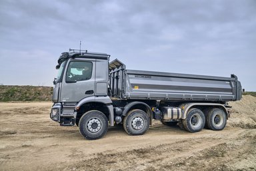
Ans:
POLYGON ((221 108, 225 112, 227 119, 229 118, 229 112, 227 111, 227 108, 225 108, 225 106, 223 104, 196 102, 196 103, 181 104, 181 109, 182 109, 181 119, 186 118, 187 112, 192 107, 195 107, 195 108, 209 108, 209 107, 221 108))

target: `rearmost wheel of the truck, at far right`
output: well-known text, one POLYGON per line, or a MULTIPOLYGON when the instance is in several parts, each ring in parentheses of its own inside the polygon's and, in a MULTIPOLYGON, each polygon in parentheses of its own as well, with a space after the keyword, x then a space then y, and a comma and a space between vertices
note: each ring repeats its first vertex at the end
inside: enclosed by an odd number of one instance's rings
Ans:
POLYGON ((220 108, 213 108, 209 110, 206 116, 207 128, 211 130, 223 130, 227 123, 227 116, 220 108))

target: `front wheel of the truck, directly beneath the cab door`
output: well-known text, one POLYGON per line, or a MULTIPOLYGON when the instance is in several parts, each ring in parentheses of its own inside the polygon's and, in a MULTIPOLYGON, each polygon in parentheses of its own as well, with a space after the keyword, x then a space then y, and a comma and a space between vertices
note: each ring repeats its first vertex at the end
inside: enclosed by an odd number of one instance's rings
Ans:
POLYGON ((107 133, 108 121, 103 112, 91 110, 79 120, 80 134, 88 140, 97 140, 107 133))

